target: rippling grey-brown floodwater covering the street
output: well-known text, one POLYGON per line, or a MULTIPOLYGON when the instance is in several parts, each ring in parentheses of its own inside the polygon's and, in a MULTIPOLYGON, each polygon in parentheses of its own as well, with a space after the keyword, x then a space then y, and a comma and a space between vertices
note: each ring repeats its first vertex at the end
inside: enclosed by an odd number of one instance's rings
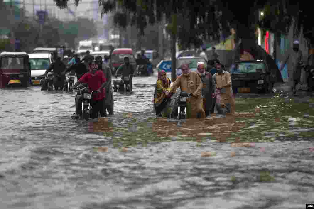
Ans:
POLYGON ((314 97, 238 94, 235 115, 156 118, 157 76, 77 121, 75 93, 0 90, 0 208, 305 208, 314 97))

